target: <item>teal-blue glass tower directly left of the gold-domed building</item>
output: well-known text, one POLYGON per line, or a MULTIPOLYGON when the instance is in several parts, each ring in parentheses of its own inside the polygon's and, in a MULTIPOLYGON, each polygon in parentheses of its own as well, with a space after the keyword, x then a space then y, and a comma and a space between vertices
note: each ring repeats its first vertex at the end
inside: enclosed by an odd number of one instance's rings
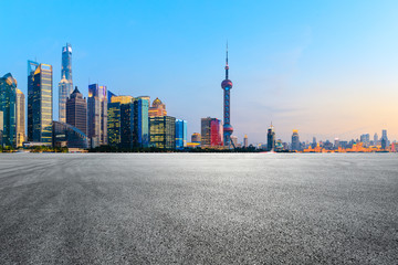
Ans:
POLYGON ((149 147, 149 97, 134 100, 134 146, 149 147))

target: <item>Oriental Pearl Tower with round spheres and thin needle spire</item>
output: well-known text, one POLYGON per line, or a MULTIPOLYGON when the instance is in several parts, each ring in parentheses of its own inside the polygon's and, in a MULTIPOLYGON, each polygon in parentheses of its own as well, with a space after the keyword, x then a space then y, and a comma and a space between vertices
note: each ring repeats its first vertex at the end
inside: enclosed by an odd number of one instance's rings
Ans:
MULTIPOLYGON (((230 124, 230 91, 232 89, 232 81, 228 78, 228 43, 227 43, 227 57, 226 57, 226 80, 221 82, 221 87, 224 91, 224 124, 223 124, 223 138, 224 147, 231 146, 231 135, 233 132, 233 127, 230 124)), ((233 142, 232 142, 233 145, 233 142)))

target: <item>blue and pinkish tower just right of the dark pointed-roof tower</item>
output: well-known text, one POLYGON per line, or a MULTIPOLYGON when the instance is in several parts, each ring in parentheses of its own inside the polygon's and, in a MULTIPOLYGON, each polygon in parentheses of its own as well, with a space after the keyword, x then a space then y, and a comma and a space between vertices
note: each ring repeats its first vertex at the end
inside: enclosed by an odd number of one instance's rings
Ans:
POLYGON ((87 129, 90 146, 107 145, 107 93, 106 86, 88 85, 87 129))

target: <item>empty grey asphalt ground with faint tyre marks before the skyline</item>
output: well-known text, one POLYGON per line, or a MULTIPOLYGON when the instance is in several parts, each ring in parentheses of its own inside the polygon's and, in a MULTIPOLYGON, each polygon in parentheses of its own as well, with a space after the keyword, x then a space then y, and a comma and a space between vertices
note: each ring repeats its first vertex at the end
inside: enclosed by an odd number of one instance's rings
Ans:
POLYGON ((397 263, 397 155, 0 155, 0 264, 397 263))

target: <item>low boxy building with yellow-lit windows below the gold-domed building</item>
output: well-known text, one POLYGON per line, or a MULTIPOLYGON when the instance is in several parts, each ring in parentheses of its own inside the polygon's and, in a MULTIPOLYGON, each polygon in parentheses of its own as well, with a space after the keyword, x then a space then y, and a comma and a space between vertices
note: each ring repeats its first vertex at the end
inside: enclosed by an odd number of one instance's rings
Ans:
POLYGON ((149 145, 161 149, 176 148, 176 118, 149 117, 149 145))

